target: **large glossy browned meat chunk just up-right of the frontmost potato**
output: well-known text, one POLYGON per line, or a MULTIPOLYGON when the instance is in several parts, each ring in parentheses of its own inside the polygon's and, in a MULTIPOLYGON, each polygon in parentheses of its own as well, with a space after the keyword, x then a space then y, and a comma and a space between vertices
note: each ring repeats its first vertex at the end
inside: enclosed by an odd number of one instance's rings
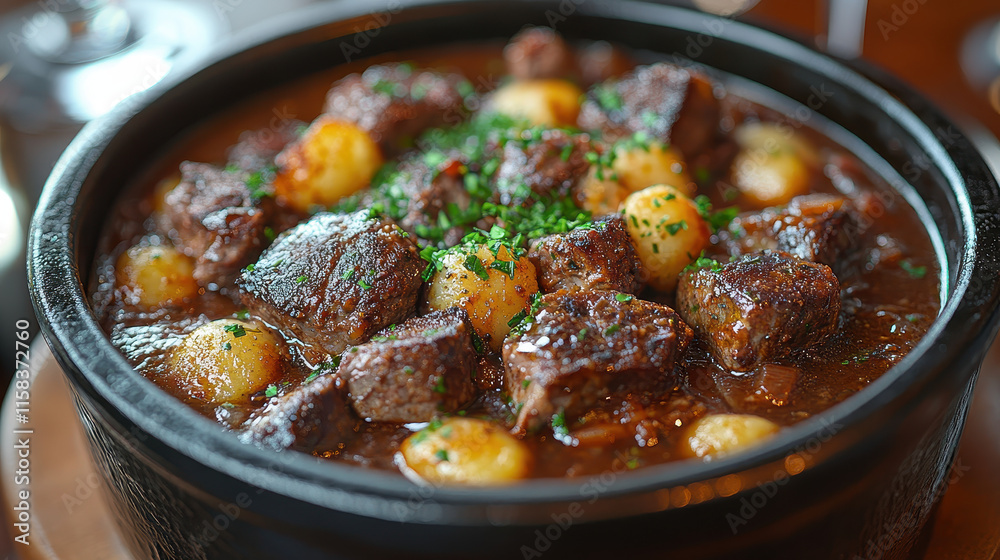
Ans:
POLYGON ((575 417, 608 396, 669 389, 692 336, 673 309, 629 294, 542 296, 535 321, 503 347, 515 429, 538 429, 560 412, 575 417))

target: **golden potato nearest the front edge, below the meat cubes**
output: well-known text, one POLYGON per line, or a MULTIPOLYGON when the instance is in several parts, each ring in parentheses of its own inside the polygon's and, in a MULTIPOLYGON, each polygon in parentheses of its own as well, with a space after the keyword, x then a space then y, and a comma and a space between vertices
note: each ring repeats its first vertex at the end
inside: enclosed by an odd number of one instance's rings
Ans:
POLYGON ((502 427, 486 420, 434 421, 406 438, 400 455, 413 473, 436 484, 489 485, 522 479, 531 452, 502 427))

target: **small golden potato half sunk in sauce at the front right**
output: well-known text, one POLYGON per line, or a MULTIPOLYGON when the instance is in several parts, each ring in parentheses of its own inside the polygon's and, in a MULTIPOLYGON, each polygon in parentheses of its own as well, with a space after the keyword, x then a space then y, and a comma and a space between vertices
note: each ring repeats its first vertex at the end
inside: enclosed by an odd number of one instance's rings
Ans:
POLYGON ((712 414, 688 427, 687 447, 682 452, 692 457, 734 453, 757 445, 780 429, 760 416, 712 414))

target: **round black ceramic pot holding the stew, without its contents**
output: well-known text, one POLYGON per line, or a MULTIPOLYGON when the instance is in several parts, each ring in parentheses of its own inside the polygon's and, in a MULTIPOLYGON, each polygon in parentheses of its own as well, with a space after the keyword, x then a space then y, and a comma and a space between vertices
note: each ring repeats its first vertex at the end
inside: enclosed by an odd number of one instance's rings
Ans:
POLYGON ((1000 270, 997 185, 924 101, 770 32, 644 3, 341 1, 273 27, 89 125, 32 224, 34 304, 136 558, 899 558, 919 548, 995 332, 1000 270), (926 339, 862 393, 746 454, 498 489, 420 488, 242 445, 111 346, 84 281, 106 209, 164 143, 233 99, 347 58, 509 37, 526 23, 692 58, 870 146, 943 241, 947 303, 926 339))

